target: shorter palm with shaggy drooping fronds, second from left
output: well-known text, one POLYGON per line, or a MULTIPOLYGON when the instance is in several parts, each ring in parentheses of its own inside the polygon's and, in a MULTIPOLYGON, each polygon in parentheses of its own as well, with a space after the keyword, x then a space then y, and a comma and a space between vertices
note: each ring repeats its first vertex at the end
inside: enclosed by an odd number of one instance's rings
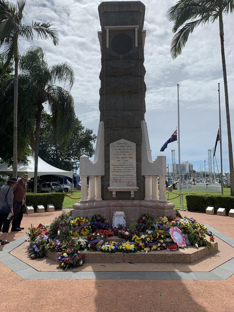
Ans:
MULTIPOLYGON (((31 47, 24 56, 20 58, 20 70, 27 76, 25 85, 23 108, 20 120, 22 127, 32 125, 35 120, 33 108, 36 108, 36 131, 35 131, 35 169, 34 169, 34 192, 37 193, 37 165, 41 112, 43 103, 48 101, 52 115, 53 135, 60 150, 65 150, 69 144, 72 130, 75 124, 74 99, 69 92, 74 84, 75 75, 71 66, 67 63, 48 66, 45 53, 41 47, 31 47), (60 85, 56 85, 56 83, 60 85), (66 86, 65 90, 61 84, 66 86), (31 120, 30 120, 31 119, 31 120)), ((48 135, 52 135, 48 133, 48 135)), ((57 158, 60 155, 56 155, 57 158)))

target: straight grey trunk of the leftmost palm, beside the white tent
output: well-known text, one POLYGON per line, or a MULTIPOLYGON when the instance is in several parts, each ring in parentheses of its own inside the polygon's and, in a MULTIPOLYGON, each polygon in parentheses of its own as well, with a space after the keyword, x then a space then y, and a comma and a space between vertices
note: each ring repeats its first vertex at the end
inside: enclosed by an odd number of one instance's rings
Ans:
POLYGON ((17 113, 18 113, 18 54, 15 57, 14 121, 13 121, 13 178, 17 178, 17 113))

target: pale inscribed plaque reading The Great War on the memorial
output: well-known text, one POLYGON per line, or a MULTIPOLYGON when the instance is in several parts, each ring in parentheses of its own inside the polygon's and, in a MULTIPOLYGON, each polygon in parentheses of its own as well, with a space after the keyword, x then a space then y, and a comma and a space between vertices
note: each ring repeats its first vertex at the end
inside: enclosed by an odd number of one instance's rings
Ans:
POLYGON ((110 144, 110 187, 136 186, 136 144, 124 139, 110 144))

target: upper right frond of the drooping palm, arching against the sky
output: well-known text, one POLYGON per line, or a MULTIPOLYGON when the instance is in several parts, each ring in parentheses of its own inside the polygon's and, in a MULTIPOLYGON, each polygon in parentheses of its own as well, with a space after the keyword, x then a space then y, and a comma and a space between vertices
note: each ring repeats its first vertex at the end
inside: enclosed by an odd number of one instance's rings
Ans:
POLYGON ((75 82, 75 74, 71 66, 67 65, 67 63, 52 65, 49 71, 51 73, 51 85, 55 85, 56 82, 64 83, 67 90, 71 90, 75 82))

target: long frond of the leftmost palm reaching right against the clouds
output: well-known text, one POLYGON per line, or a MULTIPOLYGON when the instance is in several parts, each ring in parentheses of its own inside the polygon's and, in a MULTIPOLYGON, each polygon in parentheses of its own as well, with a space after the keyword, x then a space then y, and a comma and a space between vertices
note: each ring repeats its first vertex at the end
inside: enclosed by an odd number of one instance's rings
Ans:
POLYGON ((37 34, 37 39, 51 39, 56 46, 59 43, 59 35, 55 28, 51 28, 54 24, 33 22, 32 24, 22 25, 20 36, 27 40, 33 40, 34 33, 37 34))

